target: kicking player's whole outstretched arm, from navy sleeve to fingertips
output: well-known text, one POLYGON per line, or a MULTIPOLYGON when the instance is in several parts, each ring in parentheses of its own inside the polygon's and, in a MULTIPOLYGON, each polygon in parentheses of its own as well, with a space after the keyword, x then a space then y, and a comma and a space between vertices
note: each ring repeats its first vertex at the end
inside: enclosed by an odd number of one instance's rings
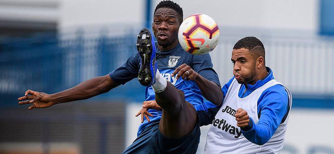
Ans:
POLYGON ((83 81, 73 88, 51 95, 27 90, 25 96, 18 98, 18 100, 21 101, 19 104, 32 104, 28 109, 33 109, 45 108, 58 103, 88 99, 106 93, 136 78, 138 76, 138 66, 139 54, 136 52, 121 67, 110 72, 108 75, 83 81))

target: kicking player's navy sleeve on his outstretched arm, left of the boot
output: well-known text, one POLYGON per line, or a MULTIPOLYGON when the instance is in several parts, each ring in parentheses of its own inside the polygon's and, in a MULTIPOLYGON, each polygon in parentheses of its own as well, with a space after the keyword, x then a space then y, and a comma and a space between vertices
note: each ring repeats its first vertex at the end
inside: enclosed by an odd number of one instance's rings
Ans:
POLYGON ((109 73, 110 78, 120 84, 125 84, 137 78, 140 64, 139 58, 138 52, 134 53, 121 67, 109 73))

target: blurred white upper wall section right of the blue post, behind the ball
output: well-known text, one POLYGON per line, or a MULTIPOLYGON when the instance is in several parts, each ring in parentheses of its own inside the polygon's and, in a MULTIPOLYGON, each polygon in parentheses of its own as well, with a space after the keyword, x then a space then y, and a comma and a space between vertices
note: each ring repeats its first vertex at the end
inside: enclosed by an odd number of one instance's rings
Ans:
MULTIPOLYGON (((158 2, 158 1, 157 1, 158 2)), ((219 26, 316 30, 318 0, 175 0, 184 17, 204 13, 219 26)))

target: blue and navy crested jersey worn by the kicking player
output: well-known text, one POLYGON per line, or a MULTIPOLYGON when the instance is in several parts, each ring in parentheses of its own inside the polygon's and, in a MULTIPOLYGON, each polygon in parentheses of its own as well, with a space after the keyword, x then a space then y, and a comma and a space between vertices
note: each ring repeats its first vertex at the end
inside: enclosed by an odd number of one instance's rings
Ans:
MULTIPOLYGON (((213 65, 209 54, 192 55, 185 52, 181 45, 178 44, 175 48, 169 51, 161 51, 159 56, 156 58, 160 74, 177 89, 184 92, 185 100, 191 103, 195 107, 196 111, 206 113, 209 109, 216 107, 216 105, 204 99, 201 91, 194 81, 183 80, 182 78, 177 80, 176 76, 171 76, 178 66, 181 64, 187 64, 204 78, 220 85, 218 75, 212 68, 213 65)), ((139 66, 140 56, 138 52, 136 52, 121 67, 110 72, 109 75, 113 81, 125 84, 126 82, 138 77, 139 66)), ((145 99, 146 101, 155 100, 155 93, 152 87, 146 87, 145 99)), ((150 122, 148 122, 147 119, 144 120, 144 122, 139 126, 137 135, 139 135, 144 128, 150 126, 153 122, 160 121, 161 119, 161 110, 150 109, 148 112, 150 112, 153 117, 150 118, 150 122)))

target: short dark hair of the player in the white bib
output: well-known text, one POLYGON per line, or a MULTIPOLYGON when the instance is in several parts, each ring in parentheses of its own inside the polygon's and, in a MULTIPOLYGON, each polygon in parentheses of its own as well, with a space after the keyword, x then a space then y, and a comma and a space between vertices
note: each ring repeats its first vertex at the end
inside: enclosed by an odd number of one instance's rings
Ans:
POLYGON ((262 42, 254 36, 248 36, 240 39, 233 47, 233 49, 241 48, 248 49, 253 55, 255 55, 255 58, 260 56, 265 58, 266 56, 265 47, 263 46, 262 42))

